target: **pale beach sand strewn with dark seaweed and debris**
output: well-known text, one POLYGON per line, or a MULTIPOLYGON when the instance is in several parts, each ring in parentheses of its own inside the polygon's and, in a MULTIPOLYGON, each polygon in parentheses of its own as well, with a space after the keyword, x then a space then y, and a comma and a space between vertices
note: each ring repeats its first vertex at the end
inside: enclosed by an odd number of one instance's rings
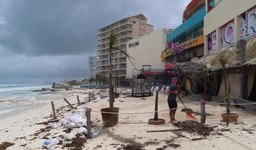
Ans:
MULTIPOLYGON (((121 93, 125 89, 118 90, 121 93)), ((256 149, 256 113, 253 111, 230 107, 230 112, 238 113, 239 118, 237 122, 230 121, 227 127, 226 122, 221 118, 221 114, 226 112, 226 107, 206 103, 205 110, 209 115, 204 126, 213 128, 213 131, 209 135, 202 136, 196 132, 179 130, 175 126, 175 124, 189 120, 186 112, 180 111, 184 107, 179 100, 177 100, 179 108, 176 112, 176 119, 180 122, 169 123, 167 95, 164 93, 158 94, 157 107, 158 118, 164 119, 166 121, 164 124, 148 124, 148 119, 154 118, 156 101, 156 91, 154 91, 154 96, 145 98, 133 98, 121 93, 114 103, 114 106, 119 107, 120 110, 118 124, 113 127, 104 127, 100 114, 100 109, 109 107, 108 89, 76 88, 71 91, 58 91, 56 94, 61 94, 76 107, 77 95, 80 102, 84 103, 88 101, 89 92, 94 93, 95 98, 101 98, 100 101, 86 105, 86 108, 92 109, 92 128, 99 130, 99 135, 92 139, 86 139, 84 136, 83 142, 79 143, 82 146, 78 146, 79 144, 75 148, 61 146, 63 135, 71 129, 65 128, 64 125, 51 128, 53 123, 47 122, 52 119, 51 101, 54 101, 58 117, 65 117, 68 112, 72 111, 61 99, 35 101, 35 107, 1 115, 0 149, 5 149, 4 146, 8 144, 12 146, 6 149, 46 149, 43 144, 48 139, 60 140, 60 144, 49 149, 129 149, 132 144, 133 149, 256 149)), ((193 112, 200 112, 199 96, 185 96, 182 100, 193 112)), ((85 117, 84 111, 79 113, 85 117)), ((194 116, 200 123, 200 116, 194 116)))

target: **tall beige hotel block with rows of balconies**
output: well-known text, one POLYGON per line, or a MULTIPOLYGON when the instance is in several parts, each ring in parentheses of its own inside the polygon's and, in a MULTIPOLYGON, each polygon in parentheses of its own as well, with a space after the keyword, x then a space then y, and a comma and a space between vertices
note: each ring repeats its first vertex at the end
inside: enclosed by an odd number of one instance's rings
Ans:
MULTIPOLYGON (((97 56, 99 57, 98 72, 101 75, 109 77, 109 33, 115 31, 119 34, 118 49, 127 50, 127 42, 134 38, 144 36, 153 32, 152 25, 147 23, 147 18, 143 14, 134 15, 125 19, 118 20, 113 24, 100 28, 97 41, 97 56)), ((118 79, 124 79, 127 76, 127 57, 120 50, 113 49, 111 56, 112 75, 118 75, 118 79)))

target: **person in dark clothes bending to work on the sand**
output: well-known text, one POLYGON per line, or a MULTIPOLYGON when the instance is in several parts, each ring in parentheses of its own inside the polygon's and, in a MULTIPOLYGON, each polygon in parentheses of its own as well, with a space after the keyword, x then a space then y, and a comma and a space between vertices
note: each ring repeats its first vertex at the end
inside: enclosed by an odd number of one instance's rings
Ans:
POLYGON ((177 94, 179 94, 178 88, 180 88, 181 86, 182 86, 182 82, 177 81, 175 85, 170 86, 169 89, 167 90, 168 105, 169 105, 169 109, 170 109, 169 115, 170 115, 171 123, 176 121, 175 113, 176 113, 176 110, 178 107, 176 98, 177 98, 177 94))

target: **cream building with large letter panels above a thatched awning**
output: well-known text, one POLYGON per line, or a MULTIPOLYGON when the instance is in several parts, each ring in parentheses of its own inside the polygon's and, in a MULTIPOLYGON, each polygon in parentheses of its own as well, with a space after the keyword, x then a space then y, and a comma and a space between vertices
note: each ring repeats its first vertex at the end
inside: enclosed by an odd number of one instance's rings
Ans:
MULTIPOLYGON (((235 58, 232 64, 225 66, 227 77, 231 75, 230 95, 256 101, 256 1, 215 0, 212 8, 206 3, 206 12, 205 56, 214 57, 229 50, 228 59, 233 56, 235 58), (241 49, 241 40, 246 40, 244 49, 241 49), (241 55, 244 56, 241 58, 241 55)), ((212 70, 218 70, 214 66, 211 67, 212 70)), ((225 97, 224 85, 222 77, 218 96, 225 97)))

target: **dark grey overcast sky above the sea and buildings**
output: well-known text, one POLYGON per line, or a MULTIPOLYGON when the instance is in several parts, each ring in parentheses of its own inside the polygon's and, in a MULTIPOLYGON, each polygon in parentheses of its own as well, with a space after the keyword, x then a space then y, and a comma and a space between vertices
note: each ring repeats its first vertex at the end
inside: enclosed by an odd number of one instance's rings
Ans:
POLYGON ((190 1, 0 0, 0 84, 86 77, 98 29, 140 13, 175 29, 190 1))

